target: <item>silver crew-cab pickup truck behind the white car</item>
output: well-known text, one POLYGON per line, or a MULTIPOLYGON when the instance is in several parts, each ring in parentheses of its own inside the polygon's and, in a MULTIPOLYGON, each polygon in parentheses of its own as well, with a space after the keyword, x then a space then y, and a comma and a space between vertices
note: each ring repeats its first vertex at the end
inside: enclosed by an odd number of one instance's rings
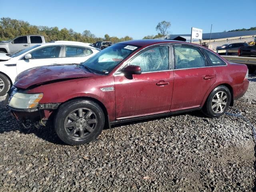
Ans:
POLYGON ((13 54, 17 51, 44 43, 45 40, 42 35, 19 36, 6 42, 0 42, 0 53, 13 54))

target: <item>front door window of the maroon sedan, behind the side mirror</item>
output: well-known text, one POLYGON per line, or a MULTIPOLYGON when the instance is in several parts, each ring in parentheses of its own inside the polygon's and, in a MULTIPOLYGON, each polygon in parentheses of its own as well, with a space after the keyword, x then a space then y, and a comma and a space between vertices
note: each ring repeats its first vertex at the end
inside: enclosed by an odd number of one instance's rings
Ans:
POLYGON ((140 66, 141 72, 154 72, 169 69, 169 47, 159 46, 136 56, 130 65, 140 66))

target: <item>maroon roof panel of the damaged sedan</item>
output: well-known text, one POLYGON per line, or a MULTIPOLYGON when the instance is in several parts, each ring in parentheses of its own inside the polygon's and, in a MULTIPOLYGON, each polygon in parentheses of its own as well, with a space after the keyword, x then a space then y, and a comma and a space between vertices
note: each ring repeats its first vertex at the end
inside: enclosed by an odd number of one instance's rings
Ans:
MULTIPOLYGON (((141 40, 131 40, 131 41, 123 41, 120 44, 129 44, 135 46, 146 47, 152 44, 162 44, 162 43, 184 43, 184 41, 176 41, 176 40, 166 40, 166 39, 141 39, 141 40)), ((189 43, 187 43, 189 44, 189 43)))

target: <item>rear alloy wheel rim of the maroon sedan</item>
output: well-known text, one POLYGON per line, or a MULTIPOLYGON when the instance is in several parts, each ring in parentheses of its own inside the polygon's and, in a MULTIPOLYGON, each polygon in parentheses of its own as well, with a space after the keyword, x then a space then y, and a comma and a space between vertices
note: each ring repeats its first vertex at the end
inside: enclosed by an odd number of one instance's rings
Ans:
POLYGON ((226 92, 219 91, 212 98, 212 111, 214 113, 222 113, 227 106, 228 96, 226 92))

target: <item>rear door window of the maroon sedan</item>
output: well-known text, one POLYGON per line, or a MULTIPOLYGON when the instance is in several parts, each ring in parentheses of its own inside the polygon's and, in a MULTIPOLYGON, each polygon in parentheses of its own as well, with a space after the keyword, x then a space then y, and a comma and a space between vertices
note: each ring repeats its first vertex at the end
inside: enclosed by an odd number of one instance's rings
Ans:
POLYGON ((174 46, 175 69, 199 68, 206 66, 206 60, 202 52, 191 46, 174 46))

